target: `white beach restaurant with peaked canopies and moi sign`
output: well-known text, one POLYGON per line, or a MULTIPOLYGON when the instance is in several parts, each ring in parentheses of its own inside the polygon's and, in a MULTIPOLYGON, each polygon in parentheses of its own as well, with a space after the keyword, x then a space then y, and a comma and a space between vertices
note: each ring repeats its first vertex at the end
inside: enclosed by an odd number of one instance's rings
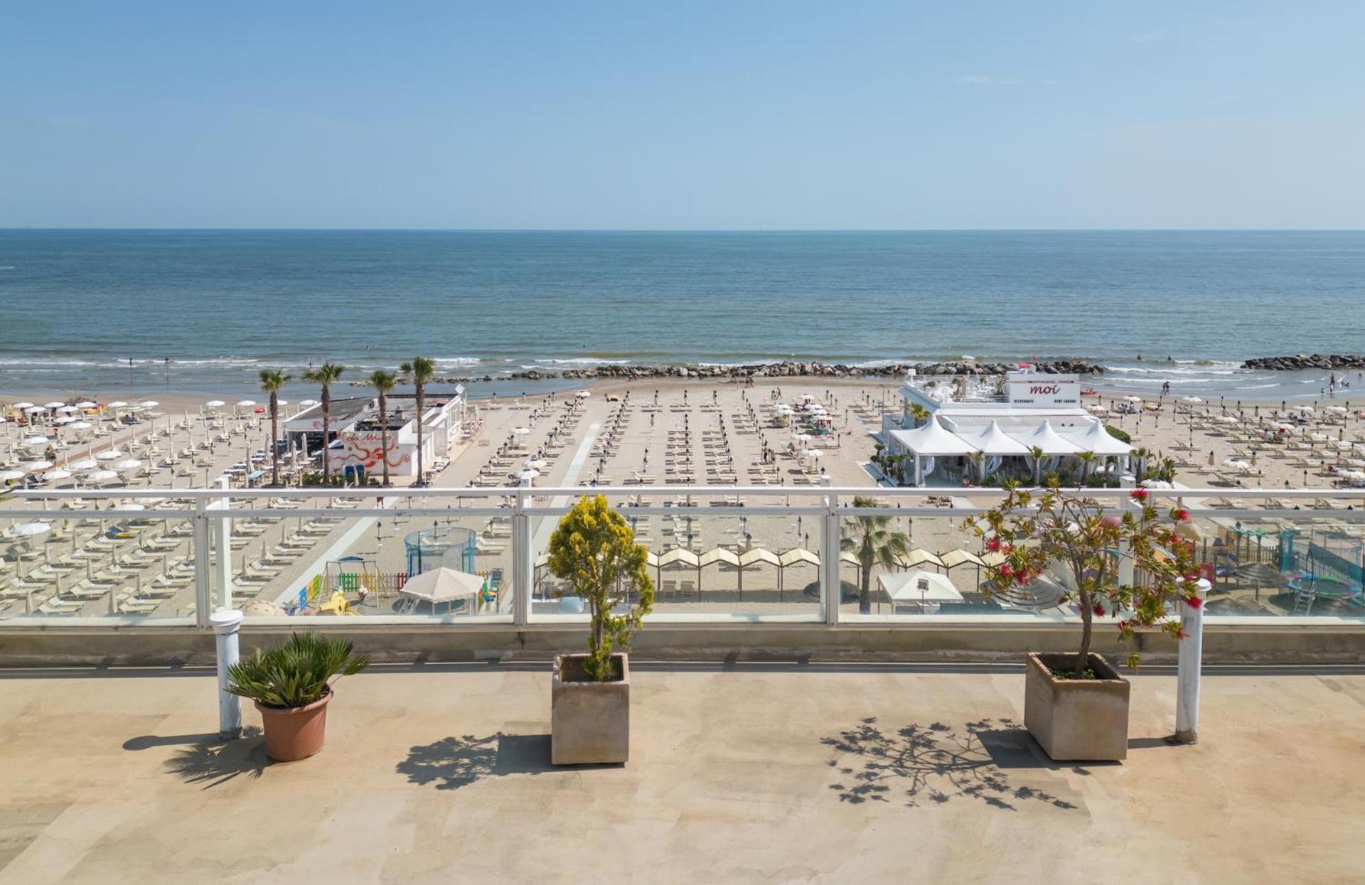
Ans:
POLYGON ((1127 470, 1130 447, 1081 407, 1081 381, 1074 374, 925 378, 912 373, 901 396, 900 426, 885 423, 882 441, 889 455, 904 456, 912 466, 904 473, 910 485, 981 483, 1002 468, 1032 474, 1036 449, 1043 453, 1043 471, 1074 464, 1082 452, 1096 456, 1092 475, 1127 470))

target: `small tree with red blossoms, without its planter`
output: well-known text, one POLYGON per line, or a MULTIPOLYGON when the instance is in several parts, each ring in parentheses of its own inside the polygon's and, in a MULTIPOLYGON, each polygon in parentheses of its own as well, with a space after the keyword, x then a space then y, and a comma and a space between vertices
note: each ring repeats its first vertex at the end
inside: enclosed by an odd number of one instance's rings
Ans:
MULTIPOLYGON (((1089 662, 1093 619, 1118 617, 1122 639, 1138 627, 1160 627, 1177 639, 1179 621, 1168 616, 1168 602, 1183 598, 1198 608, 1193 591, 1198 572, 1188 541, 1174 526, 1189 520, 1189 511, 1173 508, 1164 518, 1151 504, 1147 489, 1133 489, 1136 508, 1106 514, 1095 498, 1069 494, 1058 488, 1041 492, 1010 488, 995 508, 966 522, 986 549, 1003 554, 991 567, 986 594, 1020 600, 1021 589, 1035 582, 1048 565, 1065 568, 1074 589, 1062 602, 1073 601, 1081 612, 1081 647, 1073 676, 1081 679, 1089 662), (988 537, 987 537, 988 534, 988 537), (1121 557, 1129 557, 1140 580, 1123 583, 1121 557)), ((1129 656, 1136 666, 1138 654, 1129 656)))

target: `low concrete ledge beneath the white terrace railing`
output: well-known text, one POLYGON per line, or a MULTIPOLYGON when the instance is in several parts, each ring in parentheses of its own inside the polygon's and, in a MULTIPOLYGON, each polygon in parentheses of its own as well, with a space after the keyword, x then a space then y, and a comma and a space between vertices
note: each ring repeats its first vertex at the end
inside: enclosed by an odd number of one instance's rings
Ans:
MULTIPOLYGON (((253 624, 242 628, 242 651, 278 642, 291 624, 253 624)), ((580 624, 536 624, 516 628, 506 623, 468 627, 449 624, 386 624, 351 627, 344 620, 319 619, 306 624, 355 642, 377 661, 517 661, 545 660, 584 649, 580 624)), ((733 661, 954 661, 1022 662, 1028 651, 1072 651, 1076 624, 902 623, 804 624, 669 623, 636 634, 632 651, 647 660, 733 661)), ((1177 642, 1162 632, 1138 636, 1136 646, 1119 645, 1112 632, 1097 630, 1095 651, 1122 662, 1140 650, 1151 664, 1175 658, 1177 642)), ((192 628, 130 630, 83 628, 0 632, 0 666, 132 666, 207 665, 213 662, 213 634, 192 628)), ((1365 623, 1297 624, 1267 620, 1259 624, 1205 624, 1204 660, 1209 664, 1362 664, 1365 623)))

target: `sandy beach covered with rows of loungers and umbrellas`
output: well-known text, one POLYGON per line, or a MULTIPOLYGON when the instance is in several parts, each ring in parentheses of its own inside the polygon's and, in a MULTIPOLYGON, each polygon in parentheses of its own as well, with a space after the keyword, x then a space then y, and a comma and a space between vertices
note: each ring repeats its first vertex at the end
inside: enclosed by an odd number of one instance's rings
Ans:
MULTIPOLYGON (((659 610, 811 612, 818 604, 809 590, 816 580, 814 557, 803 559, 793 552, 818 549, 818 537, 812 537, 815 527, 801 518, 764 515, 763 505, 814 503, 812 486, 824 475, 838 486, 865 486, 868 496, 875 497, 878 481, 867 467, 875 451, 872 433, 880 427, 883 414, 900 414, 897 389, 898 384, 891 381, 844 378, 784 378, 758 381, 752 387, 670 378, 595 382, 583 388, 587 396, 566 391, 475 399, 470 408, 472 433, 452 448, 450 464, 437 475, 435 485, 516 485, 520 471, 534 466, 539 474, 534 479, 536 486, 628 488, 629 496, 622 501, 627 514, 633 505, 698 504, 704 509, 629 518, 640 542, 659 556, 678 548, 699 556, 722 548, 736 553, 767 550, 774 557, 794 559, 784 568, 768 567, 767 559, 743 570, 728 559, 706 568, 693 567, 692 560, 662 565, 657 571, 659 610), (775 406, 800 395, 811 395, 826 407, 834 417, 833 433, 793 444, 792 430, 778 426, 775 406), (652 486, 684 483, 695 489, 691 496, 651 492, 652 486), (734 485, 777 486, 790 492, 740 500, 725 489, 734 485), (737 504, 743 508, 734 507, 737 504)), ((308 393, 302 387, 291 389, 289 399, 296 396, 302 399, 308 393)), ((14 402, 16 397, 0 397, 7 407, 14 402)), ((97 414, 86 415, 94 425, 91 430, 55 433, 55 437, 70 438, 46 451, 22 448, 26 438, 42 433, 41 427, 0 425, 0 452, 7 455, 7 468, 23 470, 22 464, 44 453, 52 456, 55 470, 81 467, 81 462, 90 460, 98 467, 126 466, 131 459, 141 463, 119 470, 111 488, 121 488, 126 482, 128 488, 168 490, 164 500, 150 503, 146 519, 119 523, 98 518, 90 500, 42 504, 42 509, 61 512, 61 516, 35 515, 31 522, 41 519, 49 530, 8 539, 5 568, 0 571, 0 616, 29 609, 44 615, 192 613, 192 550, 187 523, 158 520, 154 512, 186 504, 173 496, 175 489, 205 488, 248 459, 253 468, 269 471, 265 455, 269 421, 255 411, 255 406, 227 404, 205 410, 202 396, 158 395, 156 402, 157 406, 136 411, 136 422, 130 426, 101 419, 97 414)), ((1104 406, 1115 402, 1103 397, 1104 406)), ((1218 497, 1203 498, 1213 507, 1242 504, 1238 489, 1287 486, 1321 488, 1320 504, 1325 507, 1331 504, 1332 489, 1346 482, 1343 477, 1354 477, 1350 471, 1365 468, 1361 460, 1365 451, 1351 445, 1362 442, 1365 429, 1357 414, 1358 404, 1347 399, 1321 400, 1310 406, 1313 411, 1294 411, 1294 423, 1286 425, 1291 429, 1284 432, 1274 430, 1291 417, 1280 411, 1279 403, 1242 403, 1238 410, 1237 403, 1189 403, 1170 397, 1152 402, 1158 406, 1153 411, 1100 417, 1132 434, 1134 445, 1174 459, 1178 486, 1219 489, 1218 497), (1274 441, 1267 438, 1268 430, 1274 441)), ((82 475, 79 470, 72 473, 82 475)), ((75 477, 42 485, 74 488, 74 483, 75 477)), ((953 512, 954 504, 972 503, 972 489, 927 492, 945 505, 943 516, 893 519, 894 529, 908 533, 913 548, 932 554, 976 550, 976 539, 962 530, 960 515, 953 512)), ((385 497, 390 505, 430 505, 435 500, 419 493, 396 497, 392 490, 385 497)), ((459 508, 438 519, 345 518, 345 508, 369 507, 374 500, 373 493, 356 489, 339 493, 326 516, 304 514, 236 520, 235 602, 261 602, 261 612, 278 610, 276 606, 295 601, 306 589, 304 579, 318 571, 325 574, 324 583, 340 580, 336 576, 344 571, 403 575, 414 567, 405 539, 418 531, 433 530, 444 539, 472 538, 472 563, 459 560, 453 563, 456 567, 472 565, 498 586, 508 582, 512 574, 509 519, 461 516, 459 508), (355 559, 347 565, 337 564, 343 557, 355 559)), ((464 505, 502 503, 490 496, 468 498, 464 505)), ((565 501, 538 498, 536 503, 558 505, 565 501)), ((274 504, 296 507, 283 498, 276 498, 274 504)), ((551 527, 549 518, 536 520, 538 553, 551 527)), ((856 610, 852 590, 857 570, 845 563, 844 574, 848 582, 845 606, 856 610)), ((968 602, 981 598, 976 578, 972 565, 950 574, 968 602)), ((371 585, 374 590, 363 597, 347 594, 358 612, 405 610, 393 578, 371 585)), ((551 590, 553 579, 538 568, 538 612, 557 610, 551 590)), ((504 594, 483 610, 505 610, 506 605, 504 594)))

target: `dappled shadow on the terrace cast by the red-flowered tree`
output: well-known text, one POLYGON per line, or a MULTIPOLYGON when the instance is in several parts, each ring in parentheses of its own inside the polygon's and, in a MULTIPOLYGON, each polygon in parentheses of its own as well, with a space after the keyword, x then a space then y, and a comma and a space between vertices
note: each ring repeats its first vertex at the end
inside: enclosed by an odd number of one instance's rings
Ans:
POLYGON ((1072 810, 1078 807, 1074 802, 1014 784, 1009 772, 1066 768, 1087 774, 1048 759, 1011 720, 979 720, 960 729, 934 722, 886 731, 872 717, 820 743, 838 754, 829 761, 837 774, 830 789, 854 804, 904 799, 915 807, 964 798, 1002 811, 1018 811, 1025 803, 1072 810))

